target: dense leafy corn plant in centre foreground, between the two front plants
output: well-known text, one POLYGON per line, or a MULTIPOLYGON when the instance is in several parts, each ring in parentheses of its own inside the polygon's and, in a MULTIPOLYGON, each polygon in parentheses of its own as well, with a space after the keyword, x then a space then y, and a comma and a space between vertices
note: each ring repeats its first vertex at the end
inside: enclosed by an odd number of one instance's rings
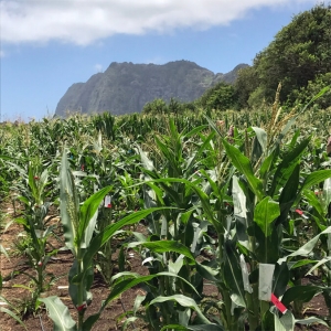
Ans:
POLYGON ((201 222, 199 216, 193 214, 194 211, 199 211, 195 206, 199 197, 192 183, 197 185, 202 182, 200 175, 194 173, 194 166, 202 159, 202 153, 214 134, 203 139, 196 153, 186 158, 184 153, 189 154, 188 146, 192 143, 193 135, 204 128, 205 126, 201 126, 190 132, 179 134, 173 120, 170 120, 171 136, 157 139, 157 145, 164 158, 166 167, 162 174, 156 170, 153 162, 139 148, 145 166, 142 171, 146 173, 142 189, 146 207, 175 207, 149 215, 147 222, 151 236, 146 238, 142 234, 134 233, 137 242, 128 245, 131 248, 139 247, 138 252, 143 258, 143 264, 153 277, 152 281, 143 286, 147 295, 140 298, 139 302, 137 300, 137 306, 141 303, 146 308, 142 318, 156 330, 166 325, 170 328, 170 324, 172 328, 181 324, 182 328, 190 330, 192 323, 199 323, 197 320, 204 324, 204 327, 200 324, 201 328, 217 327, 202 312, 194 320, 195 309, 189 309, 192 302, 194 302, 193 307, 199 307, 203 298, 203 276, 196 270, 200 269, 203 275, 207 274, 204 271, 204 266, 195 260, 200 250, 203 249, 202 238, 209 237, 206 222, 201 222), (163 178, 167 174, 171 178, 163 178), (178 250, 179 247, 182 247, 181 252, 178 250), (171 273, 173 277, 172 279, 157 277, 161 273, 171 273))

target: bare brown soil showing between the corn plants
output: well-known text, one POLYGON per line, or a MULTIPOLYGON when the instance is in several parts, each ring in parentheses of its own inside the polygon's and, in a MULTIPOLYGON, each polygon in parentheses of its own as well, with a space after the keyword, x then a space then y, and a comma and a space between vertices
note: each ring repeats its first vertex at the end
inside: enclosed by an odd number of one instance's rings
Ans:
MULTIPOLYGON (((7 221, 13 218, 13 211, 11 211, 10 205, 1 206, 2 211, 9 212, 7 221)), ((54 218, 52 222, 58 222, 58 217, 54 218)), ((0 228, 0 244, 4 248, 10 248, 9 255, 10 260, 4 257, 3 254, 0 254, 0 271, 3 277, 3 288, 1 290, 1 296, 4 297, 9 302, 11 302, 14 307, 22 306, 24 300, 26 301, 31 293, 29 290, 20 287, 15 287, 15 285, 24 285, 30 286, 30 279, 28 276, 17 273, 11 276, 12 271, 26 271, 31 273, 32 270, 28 266, 26 257, 22 255, 14 255, 14 242, 18 239, 18 235, 22 232, 22 227, 15 223, 13 223, 6 232, 0 228)), ((137 232, 146 233, 146 226, 139 224, 135 229, 137 232)), ((61 244, 55 238, 51 241, 52 245, 56 248, 61 247, 61 244)), ((119 243, 117 243, 119 244, 119 243)), ((117 254, 113 256, 113 263, 117 264, 117 254)), ((60 277, 56 282, 51 286, 50 291, 46 292, 46 296, 58 296, 61 300, 68 307, 72 317, 76 320, 77 311, 73 306, 71 298, 68 296, 67 289, 58 288, 67 286, 67 273, 73 264, 73 256, 70 252, 58 252, 54 258, 47 264, 46 271, 50 274, 54 274, 56 277, 60 277)), ((141 259, 137 253, 134 256, 129 257, 130 270, 136 271, 140 275, 147 275, 148 271, 146 267, 141 266, 141 259)), ((116 269, 115 269, 116 271, 116 269)), ((96 313, 100 307, 100 303, 104 299, 106 299, 108 295, 108 287, 105 284, 100 274, 95 271, 95 280, 92 287, 93 300, 92 305, 87 308, 85 312, 85 319, 93 313, 96 313)), ((126 291, 121 298, 114 300, 110 302, 99 320, 94 325, 93 330, 97 331, 113 331, 120 330, 122 321, 125 320, 125 310, 131 310, 135 299, 138 293, 142 293, 142 290, 137 288, 130 289, 126 291)), ((204 293, 210 297, 218 298, 217 290, 214 286, 209 285, 207 282, 204 286, 204 293)), ((313 298, 309 305, 307 305, 305 310, 305 317, 309 316, 327 316, 328 309, 324 303, 324 300, 321 296, 313 298)), ((53 322, 49 318, 45 309, 42 309, 36 316, 32 313, 23 317, 23 322, 29 331, 35 330, 44 330, 51 331, 53 330, 53 322)), ((6 313, 0 312, 0 331, 23 331, 24 328, 21 327, 14 319, 9 317, 6 313)), ((143 321, 136 321, 135 324, 128 327, 128 330, 148 330, 148 328, 143 324, 143 321)), ((318 330, 324 331, 329 330, 323 325, 310 325, 308 329, 305 328, 296 328, 296 330, 318 330)))

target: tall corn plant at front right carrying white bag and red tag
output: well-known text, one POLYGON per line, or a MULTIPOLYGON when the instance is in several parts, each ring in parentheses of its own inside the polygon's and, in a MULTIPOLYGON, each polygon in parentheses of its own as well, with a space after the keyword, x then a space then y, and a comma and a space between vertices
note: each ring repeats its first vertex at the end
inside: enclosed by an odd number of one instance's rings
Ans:
MULTIPOLYGON (((285 328, 293 328, 293 318, 290 318, 291 323, 287 324, 287 319, 279 319, 269 303, 271 293, 281 297, 287 292, 286 286, 290 279, 289 267, 284 261, 277 263, 281 260, 286 250, 284 232, 290 227, 288 216, 291 207, 300 201, 302 191, 331 175, 330 171, 317 171, 307 175, 300 183, 300 157, 310 139, 290 145, 287 153, 281 156, 280 139, 285 137, 293 120, 290 119, 285 129, 279 131, 279 136, 275 137, 276 113, 277 110, 274 111, 268 131, 252 128, 255 132, 252 152, 247 148, 248 135, 242 145, 243 151, 223 139, 226 154, 241 174, 232 177, 234 217, 228 220, 222 211, 215 217, 209 200, 200 194, 204 200, 205 214, 209 221, 215 224, 218 234, 217 261, 221 271, 215 284, 224 301, 221 320, 229 330, 244 328, 243 323, 238 324, 243 309, 252 330, 270 330, 279 323, 284 323, 285 328), (269 293, 263 295, 260 270, 269 265, 273 265, 269 293)), ((209 121, 217 131, 213 122, 210 119, 209 121)), ((209 181, 215 191, 215 183, 209 181)), ((218 199, 224 202, 224 197, 223 193, 218 199)), ((311 288, 307 290, 311 291, 311 288)), ((313 288, 312 291, 317 293, 319 289, 313 288)))

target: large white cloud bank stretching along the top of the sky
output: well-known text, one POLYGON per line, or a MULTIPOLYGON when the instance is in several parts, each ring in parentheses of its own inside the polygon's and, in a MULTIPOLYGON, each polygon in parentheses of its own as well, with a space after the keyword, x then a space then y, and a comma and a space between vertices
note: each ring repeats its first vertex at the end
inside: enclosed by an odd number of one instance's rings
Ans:
POLYGON ((178 28, 207 29, 241 19, 248 10, 313 0, 1 0, 4 43, 62 42, 87 45, 126 33, 160 33, 178 28))

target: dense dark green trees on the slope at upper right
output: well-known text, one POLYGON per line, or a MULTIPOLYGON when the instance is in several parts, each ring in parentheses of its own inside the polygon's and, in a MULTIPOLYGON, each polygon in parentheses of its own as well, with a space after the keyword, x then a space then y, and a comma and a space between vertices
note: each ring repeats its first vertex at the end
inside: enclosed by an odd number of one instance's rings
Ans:
MULTIPOLYGON (((295 15, 274 41, 254 60, 253 67, 239 72, 235 83, 241 107, 265 98, 273 102, 281 83, 280 102, 305 103, 331 83, 331 6, 319 4, 295 15)), ((319 100, 330 106, 331 95, 319 100)))

